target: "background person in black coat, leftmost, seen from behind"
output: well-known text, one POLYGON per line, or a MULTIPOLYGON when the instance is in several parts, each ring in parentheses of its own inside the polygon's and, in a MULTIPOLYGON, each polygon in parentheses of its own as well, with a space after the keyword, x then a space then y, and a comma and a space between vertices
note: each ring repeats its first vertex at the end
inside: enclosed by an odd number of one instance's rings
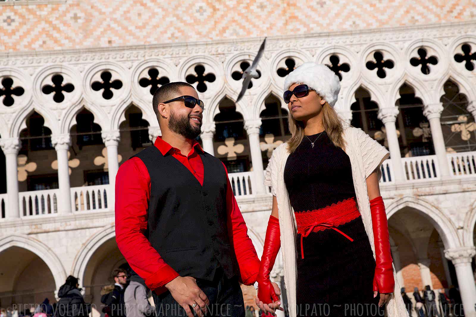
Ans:
POLYGON ((58 290, 58 297, 60 300, 56 305, 56 317, 87 317, 91 312, 91 306, 84 302, 78 279, 74 276, 68 276, 58 290))

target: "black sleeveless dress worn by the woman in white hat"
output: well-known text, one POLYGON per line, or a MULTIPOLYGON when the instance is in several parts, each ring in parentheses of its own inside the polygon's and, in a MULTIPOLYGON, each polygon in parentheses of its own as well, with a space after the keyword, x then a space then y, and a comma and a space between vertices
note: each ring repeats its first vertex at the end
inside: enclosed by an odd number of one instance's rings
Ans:
MULTIPOLYGON (((318 214, 323 211, 316 210, 323 208, 336 211, 340 203, 354 202, 356 197, 347 154, 325 131, 308 138, 289 155, 284 170, 296 216, 318 214)), ((354 209, 357 218, 338 225, 353 241, 322 227, 303 237, 302 259, 302 234, 297 235, 297 316, 384 316, 384 308, 377 305, 379 297, 373 297, 375 259, 360 213, 354 209)))

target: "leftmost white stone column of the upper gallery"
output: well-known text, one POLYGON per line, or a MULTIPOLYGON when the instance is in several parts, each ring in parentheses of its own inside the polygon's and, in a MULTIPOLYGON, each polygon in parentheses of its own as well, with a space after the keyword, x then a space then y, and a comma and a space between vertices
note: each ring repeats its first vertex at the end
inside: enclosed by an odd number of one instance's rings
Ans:
POLYGON ((7 168, 7 203, 5 204, 5 218, 19 218, 18 152, 21 148, 21 142, 19 138, 1 138, 0 146, 3 154, 5 154, 5 165, 7 168))

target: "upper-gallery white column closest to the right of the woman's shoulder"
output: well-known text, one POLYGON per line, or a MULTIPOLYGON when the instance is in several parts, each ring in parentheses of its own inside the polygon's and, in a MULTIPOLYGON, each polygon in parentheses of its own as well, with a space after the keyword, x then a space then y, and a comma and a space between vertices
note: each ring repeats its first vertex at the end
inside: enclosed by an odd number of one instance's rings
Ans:
POLYGON ((406 181, 406 176, 402 164, 402 155, 400 153, 400 144, 397 136, 397 115, 398 107, 387 107, 378 110, 377 118, 385 125, 387 134, 388 151, 390 152, 390 160, 393 165, 393 176, 395 182, 406 181))

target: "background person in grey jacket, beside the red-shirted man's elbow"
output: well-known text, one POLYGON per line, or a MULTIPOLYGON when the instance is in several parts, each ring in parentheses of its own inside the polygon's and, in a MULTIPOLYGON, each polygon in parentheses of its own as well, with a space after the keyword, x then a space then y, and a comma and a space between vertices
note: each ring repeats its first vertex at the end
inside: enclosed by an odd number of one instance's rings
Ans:
POLYGON ((146 282, 134 270, 129 269, 129 285, 124 292, 127 317, 153 316, 155 309, 150 305, 146 282))

